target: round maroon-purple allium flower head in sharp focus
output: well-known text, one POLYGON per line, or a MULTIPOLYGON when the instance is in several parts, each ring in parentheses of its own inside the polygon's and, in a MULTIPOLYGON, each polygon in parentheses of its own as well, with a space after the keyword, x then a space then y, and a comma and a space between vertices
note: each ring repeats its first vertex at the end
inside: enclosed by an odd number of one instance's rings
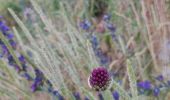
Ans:
POLYGON ((111 77, 109 72, 104 67, 98 67, 93 69, 89 79, 89 86, 96 91, 106 90, 111 83, 111 77))

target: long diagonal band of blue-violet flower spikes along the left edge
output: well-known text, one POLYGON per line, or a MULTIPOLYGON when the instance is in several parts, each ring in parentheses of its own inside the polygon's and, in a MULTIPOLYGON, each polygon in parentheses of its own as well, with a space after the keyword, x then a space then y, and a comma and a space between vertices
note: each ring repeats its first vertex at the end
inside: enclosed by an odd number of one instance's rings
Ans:
MULTIPOLYGON (((14 34, 10 32, 10 28, 5 24, 5 21, 2 19, 3 17, 0 16, 0 32, 5 36, 6 40, 8 40, 9 44, 11 45, 12 49, 16 51, 17 42, 14 40, 14 34)), ((53 90, 52 84, 49 80, 45 79, 43 73, 37 69, 34 68, 35 72, 35 78, 32 78, 31 75, 27 72, 27 61, 25 57, 19 53, 18 60, 21 63, 21 67, 17 65, 15 59, 10 54, 7 46, 5 43, 0 39, 0 48, 2 52, 0 53, 0 57, 6 57, 8 64, 16 69, 16 71, 25 79, 28 81, 33 81, 33 84, 31 85, 31 90, 33 92, 37 91, 41 86, 44 85, 46 82, 48 91, 52 93, 53 95, 57 96, 59 100, 64 100, 64 98, 57 92, 53 90)), ((16 51, 17 52, 17 51, 16 51)))

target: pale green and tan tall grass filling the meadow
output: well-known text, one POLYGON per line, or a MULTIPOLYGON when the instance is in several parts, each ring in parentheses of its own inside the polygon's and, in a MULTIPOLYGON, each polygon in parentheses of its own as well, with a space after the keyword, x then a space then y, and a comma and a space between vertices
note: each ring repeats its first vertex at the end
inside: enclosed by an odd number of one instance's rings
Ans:
MULTIPOLYGON (((32 68, 38 68, 43 72, 45 79, 50 80, 53 88, 59 91, 66 100, 74 100, 74 92, 80 93, 82 99, 87 96, 90 100, 96 100, 97 92, 89 88, 88 77, 94 68, 100 66, 100 63, 95 56, 90 40, 84 35, 85 31, 80 30, 77 26, 79 17, 93 19, 90 15, 92 12, 87 14, 87 5, 90 4, 90 1, 58 1, 57 10, 52 7, 46 8, 54 3, 52 0, 30 0, 30 2, 37 19, 31 23, 31 27, 33 27, 31 29, 13 9, 8 8, 19 26, 19 28, 12 28, 22 49, 19 52, 24 54, 32 68), (42 4, 43 2, 46 3, 42 4), (71 4, 73 2, 76 4, 71 4), (22 38, 23 35, 25 38, 22 38), (33 53, 33 57, 26 54, 28 50, 33 53)), ((169 61, 161 63, 162 59, 159 58, 160 47, 165 41, 168 41, 169 36, 169 24, 166 24, 168 18, 165 15, 164 4, 164 0, 153 2, 108 0, 108 12, 112 15, 111 20, 116 26, 117 38, 117 41, 111 42, 112 50, 120 51, 123 57, 115 59, 106 68, 110 72, 118 70, 124 73, 120 76, 122 84, 119 84, 114 76, 111 83, 111 89, 118 91, 121 100, 156 99, 154 96, 139 95, 137 82, 143 80, 155 82, 152 77, 163 74, 169 66, 164 65, 169 61), (115 68, 116 64, 119 64, 119 60, 121 64, 115 68)), ((15 52, 2 33, 0 39, 9 49, 17 65, 21 66, 15 52)), ((114 53, 115 56, 118 56, 117 52, 114 53)), ((0 76, 1 98, 18 100, 19 97, 16 95, 19 95, 24 100, 34 99, 32 97, 34 93, 30 91, 26 80, 20 79, 21 77, 13 69, 8 68, 3 60, 1 63, 2 72, 8 74, 7 78, 4 78, 3 75, 0 76), (24 86, 25 84, 27 87, 24 86)), ((166 71, 166 74, 163 75, 168 80, 169 72, 166 71)), ((159 96, 159 99, 166 98, 168 91, 166 89, 165 91, 166 93, 159 96)), ((109 89, 101 93, 105 100, 112 100, 113 94, 109 89)))

